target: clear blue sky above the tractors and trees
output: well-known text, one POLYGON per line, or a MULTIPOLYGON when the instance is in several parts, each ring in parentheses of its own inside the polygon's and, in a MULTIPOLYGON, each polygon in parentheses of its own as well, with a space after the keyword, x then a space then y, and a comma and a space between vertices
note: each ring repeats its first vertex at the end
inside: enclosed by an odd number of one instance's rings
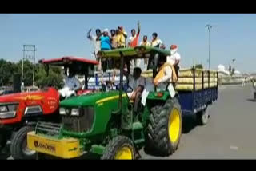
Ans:
POLYGON ((87 31, 124 26, 137 30, 141 36, 153 32, 169 48, 177 44, 182 67, 200 63, 207 67, 208 31, 211 31, 211 66, 226 67, 232 58, 242 72, 256 70, 256 14, 0 14, 0 58, 22 59, 22 45, 34 44, 37 59, 74 55, 91 58, 93 46, 86 38, 87 31))

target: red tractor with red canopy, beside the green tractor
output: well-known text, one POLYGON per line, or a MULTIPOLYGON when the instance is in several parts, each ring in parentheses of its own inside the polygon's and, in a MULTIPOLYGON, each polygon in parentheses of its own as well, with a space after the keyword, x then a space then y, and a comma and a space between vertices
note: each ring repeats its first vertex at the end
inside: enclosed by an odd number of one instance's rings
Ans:
MULTIPOLYGON (((40 60, 46 66, 64 66, 65 74, 72 68, 75 74, 85 76, 85 87, 77 95, 90 92, 88 78, 94 75, 97 61, 86 58, 63 57, 40 60)), ((0 149, 10 140, 10 154, 14 159, 34 159, 34 151, 26 148, 26 133, 34 130, 38 121, 58 122, 60 95, 57 89, 47 87, 29 93, 12 93, 0 96, 0 149)))

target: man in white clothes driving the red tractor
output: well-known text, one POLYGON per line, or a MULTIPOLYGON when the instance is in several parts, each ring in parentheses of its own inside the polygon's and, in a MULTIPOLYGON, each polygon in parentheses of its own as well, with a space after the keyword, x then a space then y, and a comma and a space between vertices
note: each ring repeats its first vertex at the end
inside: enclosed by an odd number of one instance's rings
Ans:
POLYGON ((82 86, 77 78, 74 77, 74 70, 70 70, 69 76, 64 78, 64 87, 58 90, 61 98, 67 98, 76 94, 78 89, 82 86))

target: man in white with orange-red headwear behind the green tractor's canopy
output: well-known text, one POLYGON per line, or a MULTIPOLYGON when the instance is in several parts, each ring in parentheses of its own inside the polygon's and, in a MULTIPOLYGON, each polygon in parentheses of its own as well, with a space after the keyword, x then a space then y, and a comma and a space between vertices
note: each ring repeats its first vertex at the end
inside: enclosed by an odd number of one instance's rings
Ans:
POLYGON ((170 63, 170 65, 174 66, 176 74, 178 74, 179 70, 179 62, 181 60, 181 55, 178 54, 178 46, 177 45, 171 45, 170 46, 170 56, 167 56, 167 62, 170 63))

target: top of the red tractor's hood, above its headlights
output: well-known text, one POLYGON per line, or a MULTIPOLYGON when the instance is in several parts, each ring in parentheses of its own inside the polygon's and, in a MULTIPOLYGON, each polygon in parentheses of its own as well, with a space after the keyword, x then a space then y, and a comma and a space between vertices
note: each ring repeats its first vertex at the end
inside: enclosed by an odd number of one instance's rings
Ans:
POLYGON ((4 102, 19 102, 19 101, 27 101, 27 100, 36 100, 36 101, 40 101, 42 100, 44 97, 46 97, 47 93, 49 92, 50 89, 48 91, 35 91, 35 92, 28 92, 28 93, 12 93, 12 94, 8 94, 8 95, 3 95, 0 96, 0 103, 4 103, 4 102))

